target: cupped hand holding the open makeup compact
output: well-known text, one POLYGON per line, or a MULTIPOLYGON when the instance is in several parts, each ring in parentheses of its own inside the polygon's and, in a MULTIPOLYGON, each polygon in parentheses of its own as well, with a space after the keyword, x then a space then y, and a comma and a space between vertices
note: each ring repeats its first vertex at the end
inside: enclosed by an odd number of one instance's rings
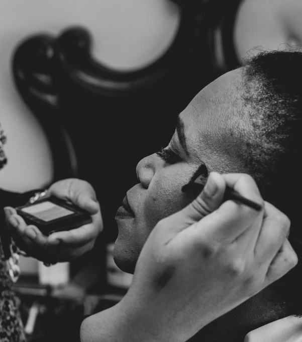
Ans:
POLYGON ((92 223, 47 237, 36 226, 27 226, 14 208, 7 207, 7 223, 20 248, 30 256, 46 262, 70 261, 90 250, 103 229, 99 204, 92 186, 80 179, 65 179, 54 183, 46 196, 71 201, 91 215, 92 223))

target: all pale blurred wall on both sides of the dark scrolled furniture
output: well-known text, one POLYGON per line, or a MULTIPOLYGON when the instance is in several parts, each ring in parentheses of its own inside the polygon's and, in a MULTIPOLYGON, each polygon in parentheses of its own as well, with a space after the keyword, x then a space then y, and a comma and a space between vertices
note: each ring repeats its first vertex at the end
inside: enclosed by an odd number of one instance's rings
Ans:
MULTIPOLYGON (((170 45, 179 9, 169 0, 0 0, 0 122, 8 133, 9 164, 0 187, 25 191, 52 179, 45 135, 14 88, 10 62, 18 42, 30 34, 57 34, 71 25, 87 27, 96 59, 133 70, 157 59, 170 45)), ((236 52, 261 45, 302 44, 301 0, 243 0, 235 25, 236 52)))

